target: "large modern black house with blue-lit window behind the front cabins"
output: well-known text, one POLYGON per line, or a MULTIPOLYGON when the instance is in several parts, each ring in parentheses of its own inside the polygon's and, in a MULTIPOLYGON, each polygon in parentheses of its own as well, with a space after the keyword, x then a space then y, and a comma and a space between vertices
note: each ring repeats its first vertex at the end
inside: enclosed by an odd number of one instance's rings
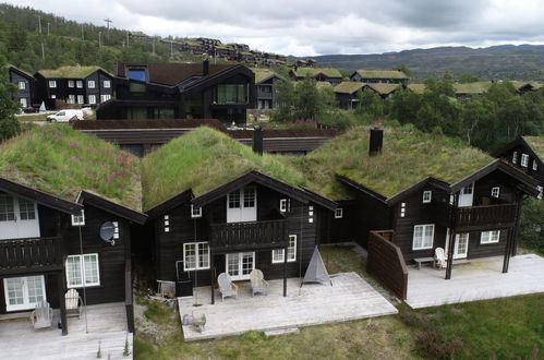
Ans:
POLYGON ((219 119, 245 123, 255 107, 255 76, 243 65, 119 62, 116 99, 97 108, 99 120, 219 119))

